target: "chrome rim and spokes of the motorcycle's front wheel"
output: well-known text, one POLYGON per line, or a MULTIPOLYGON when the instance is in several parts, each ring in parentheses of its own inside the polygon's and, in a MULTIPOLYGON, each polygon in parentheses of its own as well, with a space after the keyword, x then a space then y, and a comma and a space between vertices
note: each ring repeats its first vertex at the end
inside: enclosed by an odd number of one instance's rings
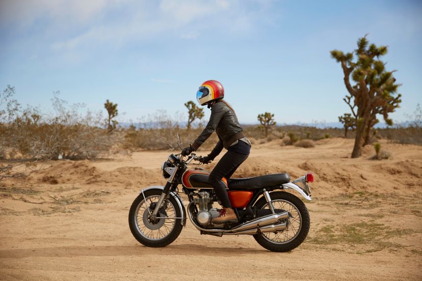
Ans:
MULTIPOLYGON (((166 238, 174 229, 176 219, 176 211, 169 200, 164 202, 164 206, 160 209, 157 217, 167 217, 152 220, 148 211, 148 207, 152 203, 157 203, 160 195, 147 196, 142 200, 135 210, 135 225, 140 235, 148 240, 161 240, 166 238), (147 207, 148 206, 148 207, 147 207)), ((152 212, 152 210, 150 210, 152 212)))

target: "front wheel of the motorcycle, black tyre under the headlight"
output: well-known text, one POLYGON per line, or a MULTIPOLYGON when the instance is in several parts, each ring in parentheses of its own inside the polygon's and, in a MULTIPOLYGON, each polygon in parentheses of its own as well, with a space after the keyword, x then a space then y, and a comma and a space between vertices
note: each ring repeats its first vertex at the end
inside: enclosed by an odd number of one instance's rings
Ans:
POLYGON ((173 196, 169 196, 152 219, 150 212, 158 203, 162 190, 150 189, 139 194, 129 210, 129 227, 134 237, 147 247, 165 247, 180 234, 182 211, 173 196), (145 198, 144 198, 145 195, 145 198), (176 218, 177 217, 177 218, 176 218))

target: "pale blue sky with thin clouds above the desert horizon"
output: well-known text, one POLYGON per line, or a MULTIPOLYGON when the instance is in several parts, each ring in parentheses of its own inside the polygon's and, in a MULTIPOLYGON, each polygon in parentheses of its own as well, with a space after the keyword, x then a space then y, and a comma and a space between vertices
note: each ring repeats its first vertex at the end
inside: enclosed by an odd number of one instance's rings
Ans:
MULTIPOLYGON (((186 111, 199 85, 222 82, 241 123, 336 122, 349 112, 340 65, 365 34, 388 45, 406 120, 422 103, 422 2, 2 0, 0 86, 48 111, 53 92, 120 121, 186 111), (105 110, 104 110, 105 113, 105 110)), ((209 117, 206 109, 205 119, 209 117)))

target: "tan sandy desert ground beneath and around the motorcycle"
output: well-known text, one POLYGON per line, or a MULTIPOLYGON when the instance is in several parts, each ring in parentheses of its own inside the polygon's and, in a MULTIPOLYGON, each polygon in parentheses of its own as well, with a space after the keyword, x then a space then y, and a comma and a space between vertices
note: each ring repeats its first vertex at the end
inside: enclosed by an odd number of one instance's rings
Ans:
POLYGON ((351 159, 352 146, 254 145, 236 172, 314 172, 310 232, 287 253, 251 236, 200 235, 189 221, 165 248, 139 244, 128 209, 140 189, 164 185, 169 151, 45 163, 27 180, 0 183, 0 279, 421 280, 422 147, 382 143, 391 158, 377 161, 373 147, 351 159))

